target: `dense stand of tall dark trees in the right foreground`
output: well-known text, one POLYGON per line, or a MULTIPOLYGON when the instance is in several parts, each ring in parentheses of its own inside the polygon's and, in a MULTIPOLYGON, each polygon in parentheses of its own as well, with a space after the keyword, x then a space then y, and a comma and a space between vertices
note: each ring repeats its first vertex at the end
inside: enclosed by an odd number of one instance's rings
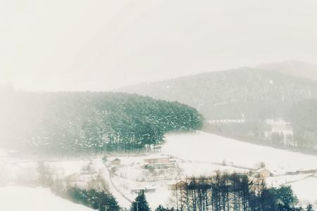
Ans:
POLYGON ((268 188, 263 179, 244 174, 191 177, 173 189, 176 210, 181 211, 300 210, 290 186, 268 188))

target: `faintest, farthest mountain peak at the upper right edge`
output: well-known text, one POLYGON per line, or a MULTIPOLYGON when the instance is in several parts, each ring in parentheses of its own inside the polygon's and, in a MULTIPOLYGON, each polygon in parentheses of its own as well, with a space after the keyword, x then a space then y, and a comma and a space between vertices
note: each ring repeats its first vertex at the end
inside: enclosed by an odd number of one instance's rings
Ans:
POLYGON ((311 65, 299 60, 287 60, 282 63, 266 63, 259 65, 257 68, 317 80, 317 65, 311 65))

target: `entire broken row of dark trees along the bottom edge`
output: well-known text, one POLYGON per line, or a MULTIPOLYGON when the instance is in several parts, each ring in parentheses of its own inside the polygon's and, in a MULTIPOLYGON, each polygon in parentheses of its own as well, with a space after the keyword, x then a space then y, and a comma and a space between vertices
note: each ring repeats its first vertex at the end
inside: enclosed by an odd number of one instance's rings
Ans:
MULTIPOLYGON (((211 178, 190 178, 175 187, 175 207, 159 205, 155 211, 313 211, 311 204, 302 208, 290 186, 267 188, 265 184, 253 184, 237 174, 218 174, 218 181, 211 178), (225 178, 227 177, 227 178, 225 178), (229 179, 230 178, 230 179, 229 179), (229 180, 227 180, 229 179, 229 180), (230 184, 224 184, 224 181, 230 184), (211 191, 212 189, 212 191, 211 191)), ((110 193, 96 189, 68 189, 68 199, 99 211, 123 210, 110 193)), ((130 211, 151 211, 144 191, 139 191, 131 203, 130 211)))

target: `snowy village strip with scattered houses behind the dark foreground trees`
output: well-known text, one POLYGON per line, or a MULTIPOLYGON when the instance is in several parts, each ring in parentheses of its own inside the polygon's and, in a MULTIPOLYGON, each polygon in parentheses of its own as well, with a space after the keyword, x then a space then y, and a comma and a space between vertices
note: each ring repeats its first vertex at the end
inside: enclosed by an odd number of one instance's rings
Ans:
POLYGON ((164 205, 173 205, 174 202, 170 201, 173 191, 188 177, 209 177, 216 172, 246 174, 254 180, 264 179, 269 186, 292 184, 309 177, 317 178, 317 170, 273 174, 263 163, 258 167, 249 168, 237 166, 232 162, 182 160, 159 153, 135 157, 109 157, 104 164, 110 172, 111 183, 124 198, 133 200, 142 190, 147 193, 149 202, 154 206, 159 205, 158 197, 164 200, 164 205))

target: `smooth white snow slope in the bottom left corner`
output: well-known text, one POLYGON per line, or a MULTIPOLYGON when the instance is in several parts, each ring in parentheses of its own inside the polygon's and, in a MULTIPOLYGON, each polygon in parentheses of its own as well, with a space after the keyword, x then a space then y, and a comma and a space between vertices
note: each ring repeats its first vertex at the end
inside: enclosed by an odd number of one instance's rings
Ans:
POLYGON ((46 188, 0 187, 1 211, 92 211, 55 196, 46 188))

